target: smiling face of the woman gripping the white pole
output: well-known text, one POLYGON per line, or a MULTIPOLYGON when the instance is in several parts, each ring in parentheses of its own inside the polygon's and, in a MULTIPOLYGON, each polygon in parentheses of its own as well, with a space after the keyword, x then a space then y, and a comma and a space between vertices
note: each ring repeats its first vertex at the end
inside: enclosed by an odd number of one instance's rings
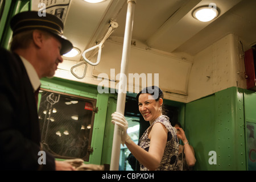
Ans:
POLYGON ((142 93, 139 95, 139 112, 142 114, 144 120, 150 123, 154 122, 156 118, 162 115, 162 110, 160 110, 162 104, 162 98, 156 101, 151 94, 142 93))

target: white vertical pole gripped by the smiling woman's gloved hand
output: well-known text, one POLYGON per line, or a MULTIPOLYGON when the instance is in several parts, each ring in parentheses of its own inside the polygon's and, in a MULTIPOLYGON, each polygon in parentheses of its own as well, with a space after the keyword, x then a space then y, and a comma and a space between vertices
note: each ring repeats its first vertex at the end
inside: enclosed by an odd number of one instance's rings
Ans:
MULTIPOLYGON (((131 34, 133 32, 133 17, 136 0, 128 0, 127 14, 126 14, 126 25, 125 25, 125 36, 123 40, 123 52, 121 62, 121 73, 117 95, 117 112, 125 113, 125 100, 127 91, 127 64, 128 57, 130 55, 131 48, 131 34)), ((119 168, 119 157, 120 157, 120 145, 121 145, 122 130, 119 126, 114 126, 114 136, 112 145, 112 156, 110 163, 111 171, 118 171, 119 168)))

